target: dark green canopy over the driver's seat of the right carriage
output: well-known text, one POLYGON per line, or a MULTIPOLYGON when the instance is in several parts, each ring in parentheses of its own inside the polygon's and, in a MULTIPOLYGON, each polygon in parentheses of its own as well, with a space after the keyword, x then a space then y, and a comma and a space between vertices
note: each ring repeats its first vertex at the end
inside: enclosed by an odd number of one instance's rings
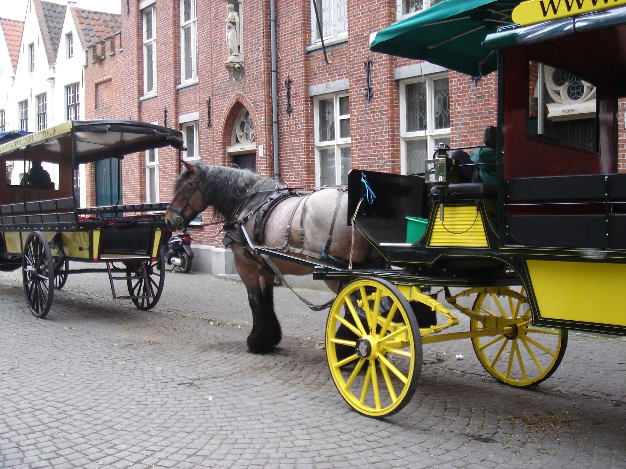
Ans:
POLYGON ((471 76, 495 71, 497 57, 483 48, 489 33, 513 24, 511 13, 520 1, 443 0, 378 31, 369 47, 409 59, 427 60, 471 76))

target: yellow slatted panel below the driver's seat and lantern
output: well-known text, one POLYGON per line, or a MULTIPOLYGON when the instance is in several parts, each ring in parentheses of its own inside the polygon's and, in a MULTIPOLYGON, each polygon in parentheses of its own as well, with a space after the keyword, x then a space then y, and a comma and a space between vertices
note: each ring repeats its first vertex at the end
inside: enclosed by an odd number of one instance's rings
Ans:
POLYGON ((476 205, 444 206, 443 223, 437 208, 429 245, 488 247, 483 218, 476 205))

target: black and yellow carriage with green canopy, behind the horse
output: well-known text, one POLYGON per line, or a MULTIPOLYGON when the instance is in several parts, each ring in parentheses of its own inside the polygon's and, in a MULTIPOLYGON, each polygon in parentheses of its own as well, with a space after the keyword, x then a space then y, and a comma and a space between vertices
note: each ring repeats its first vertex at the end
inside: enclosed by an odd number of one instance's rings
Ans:
POLYGON ((626 333, 626 6, 542 4, 446 0, 372 36, 373 51, 497 69, 498 125, 491 161, 442 144, 422 174, 349 175, 349 223, 386 268, 314 276, 341 282, 327 359, 364 415, 408 403, 423 344, 469 338, 492 376, 525 387, 557 369, 568 329, 626 333), (478 177, 460 180, 468 167, 478 177), (441 290, 469 331, 444 331, 458 320, 441 290))

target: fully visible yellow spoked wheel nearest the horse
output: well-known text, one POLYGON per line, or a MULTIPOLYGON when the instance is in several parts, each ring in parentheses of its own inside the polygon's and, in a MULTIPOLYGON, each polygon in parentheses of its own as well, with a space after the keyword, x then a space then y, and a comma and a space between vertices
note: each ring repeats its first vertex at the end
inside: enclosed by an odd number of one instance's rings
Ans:
POLYGON ((343 398, 382 418, 406 406, 419 382, 422 343, 409 302, 385 280, 349 283, 326 323, 326 356, 343 398))

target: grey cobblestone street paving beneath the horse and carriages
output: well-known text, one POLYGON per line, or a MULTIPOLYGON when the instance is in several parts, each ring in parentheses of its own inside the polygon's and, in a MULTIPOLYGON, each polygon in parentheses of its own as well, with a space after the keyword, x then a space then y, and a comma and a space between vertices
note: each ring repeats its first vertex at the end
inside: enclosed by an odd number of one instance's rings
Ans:
POLYGON ((618 468, 626 460, 623 338, 572 333, 561 368, 536 390, 493 380, 469 341, 433 344, 425 357, 464 360, 425 366, 411 403, 372 420, 342 400, 316 348, 326 314, 284 288, 275 295, 284 340, 269 355, 245 349, 244 287, 208 275, 168 273, 148 312, 111 300, 100 274, 70 276, 45 320, 30 315, 16 273, 0 273, 0 295, 0 467, 618 468))

